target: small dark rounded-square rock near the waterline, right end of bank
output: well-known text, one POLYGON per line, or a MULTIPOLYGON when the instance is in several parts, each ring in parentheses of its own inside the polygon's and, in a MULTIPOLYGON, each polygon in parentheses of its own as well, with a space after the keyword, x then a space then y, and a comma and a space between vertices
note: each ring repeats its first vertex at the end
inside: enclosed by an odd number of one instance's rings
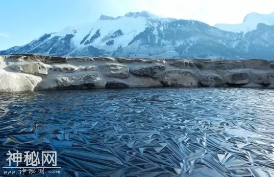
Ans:
POLYGON ((249 84, 249 74, 246 72, 231 73, 226 81, 228 85, 249 84))

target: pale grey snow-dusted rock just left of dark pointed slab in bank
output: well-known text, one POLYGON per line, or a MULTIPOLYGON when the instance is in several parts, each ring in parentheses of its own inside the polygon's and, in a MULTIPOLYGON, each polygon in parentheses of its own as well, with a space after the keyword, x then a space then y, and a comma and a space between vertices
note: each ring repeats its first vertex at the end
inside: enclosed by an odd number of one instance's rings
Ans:
POLYGON ((120 64, 106 64, 99 67, 106 77, 128 78, 129 68, 120 64))

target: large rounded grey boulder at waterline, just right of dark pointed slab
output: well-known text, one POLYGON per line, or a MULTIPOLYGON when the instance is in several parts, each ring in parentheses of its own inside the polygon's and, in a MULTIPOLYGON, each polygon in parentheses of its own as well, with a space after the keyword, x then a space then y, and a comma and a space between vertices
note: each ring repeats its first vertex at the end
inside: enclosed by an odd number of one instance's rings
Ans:
POLYGON ((169 70, 163 77, 163 85, 167 87, 197 87, 197 76, 185 70, 169 70))

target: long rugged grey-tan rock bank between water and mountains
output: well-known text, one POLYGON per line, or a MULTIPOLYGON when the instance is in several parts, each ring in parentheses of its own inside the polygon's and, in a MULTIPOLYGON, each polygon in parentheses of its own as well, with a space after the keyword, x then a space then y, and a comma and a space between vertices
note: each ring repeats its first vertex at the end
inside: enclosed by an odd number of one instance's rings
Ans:
POLYGON ((138 87, 274 88, 274 62, 0 56, 0 92, 138 87))

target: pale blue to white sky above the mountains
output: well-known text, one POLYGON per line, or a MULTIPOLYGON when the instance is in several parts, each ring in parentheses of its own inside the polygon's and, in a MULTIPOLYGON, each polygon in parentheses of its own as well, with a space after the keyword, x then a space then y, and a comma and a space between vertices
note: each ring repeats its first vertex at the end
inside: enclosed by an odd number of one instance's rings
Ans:
POLYGON ((241 23, 250 12, 274 11, 274 0, 0 0, 0 50, 27 44, 44 33, 147 10, 164 17, 241 23))

